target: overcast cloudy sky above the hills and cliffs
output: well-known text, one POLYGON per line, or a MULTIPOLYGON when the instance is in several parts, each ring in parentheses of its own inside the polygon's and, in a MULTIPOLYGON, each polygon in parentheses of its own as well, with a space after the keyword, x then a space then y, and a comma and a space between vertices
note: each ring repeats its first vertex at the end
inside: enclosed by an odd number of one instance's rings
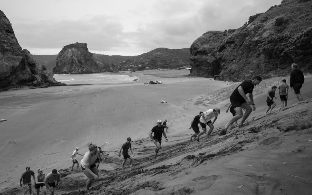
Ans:
POLYGON ((181 49, 211 30, 234 29, 281 0, 0 0, 17 41, 31 54, 71 43, 90 52, 135 56, 181 49))

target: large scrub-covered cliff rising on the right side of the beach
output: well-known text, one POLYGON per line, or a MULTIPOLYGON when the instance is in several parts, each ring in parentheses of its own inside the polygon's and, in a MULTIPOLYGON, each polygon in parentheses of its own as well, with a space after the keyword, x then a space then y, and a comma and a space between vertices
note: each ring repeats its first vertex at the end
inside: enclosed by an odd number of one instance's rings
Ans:
POLYGON ((304 72, 312 66, 311 1, 284 0, 248 24, 225 32, 207 32, 191 46, 192 75, 219 74, 240 81, 289 74, 291 63, 304 72))

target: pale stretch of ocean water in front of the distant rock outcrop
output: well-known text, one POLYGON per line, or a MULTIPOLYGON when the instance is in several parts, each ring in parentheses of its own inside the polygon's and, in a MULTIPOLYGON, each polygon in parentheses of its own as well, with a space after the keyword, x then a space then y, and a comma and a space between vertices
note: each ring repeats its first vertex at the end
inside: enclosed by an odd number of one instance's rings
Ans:
POLYGON ((135 76, 117 74, 56 74, 53 77, 56 81, 67 85, 128 83, 139 80, 139 78, 135 76))

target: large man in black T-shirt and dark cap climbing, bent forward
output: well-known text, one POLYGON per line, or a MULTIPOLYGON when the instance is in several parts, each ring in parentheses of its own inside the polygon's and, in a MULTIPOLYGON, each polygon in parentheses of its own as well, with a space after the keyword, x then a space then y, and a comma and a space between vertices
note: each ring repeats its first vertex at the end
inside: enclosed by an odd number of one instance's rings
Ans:
POLYGON ((230 102, 237 115, 233 116, 233 118, 224 125, 224 129, 220 131, 219 135, 225 135, 229 126, 240 118, 242 119, 238 127, 242 127, 252 110, 256 110, 256 106, 253 101, 252 91, 256 85, 259 85, 261 81, 262 78, 260 76, 255 76, 251 80, 245 80, 236 87, 236 89, 230 96, 230 102), (246 94, 249 94, 249 98, 246 96, 246 94), (244 114, 242 108, 246 110, 244 114))

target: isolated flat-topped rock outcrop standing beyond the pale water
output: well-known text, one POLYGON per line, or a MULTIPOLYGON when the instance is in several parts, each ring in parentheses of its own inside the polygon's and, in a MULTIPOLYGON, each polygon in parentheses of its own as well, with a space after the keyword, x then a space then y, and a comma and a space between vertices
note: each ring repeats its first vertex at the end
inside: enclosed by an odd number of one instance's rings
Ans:
POLYGON ((89 52, 86 43, 72 43, 63 47, 56 59, 54 73, 80 74, 118 72, 113 67, 97 61, 89 52))

